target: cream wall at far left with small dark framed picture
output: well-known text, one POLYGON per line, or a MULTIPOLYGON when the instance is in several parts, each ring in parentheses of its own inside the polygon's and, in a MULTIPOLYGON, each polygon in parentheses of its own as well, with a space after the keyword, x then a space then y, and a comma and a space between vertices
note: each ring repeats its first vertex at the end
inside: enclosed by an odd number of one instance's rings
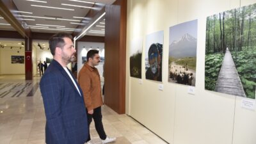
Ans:
POLYGON ((10 47, 4 47, 0 51, 0 74, 25 74, 25 60, 24 63, 12 63, 11 58, 11 56, 25 56, 24 48, 14 47, 10 49, 10 47))

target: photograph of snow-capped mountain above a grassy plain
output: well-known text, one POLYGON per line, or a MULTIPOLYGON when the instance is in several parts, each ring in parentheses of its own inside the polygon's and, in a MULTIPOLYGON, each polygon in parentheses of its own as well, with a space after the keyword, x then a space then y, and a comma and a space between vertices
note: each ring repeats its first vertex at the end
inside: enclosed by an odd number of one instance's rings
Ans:
POLYGON ((168 81, 195 86, 197 20, 169 29, 168 81))

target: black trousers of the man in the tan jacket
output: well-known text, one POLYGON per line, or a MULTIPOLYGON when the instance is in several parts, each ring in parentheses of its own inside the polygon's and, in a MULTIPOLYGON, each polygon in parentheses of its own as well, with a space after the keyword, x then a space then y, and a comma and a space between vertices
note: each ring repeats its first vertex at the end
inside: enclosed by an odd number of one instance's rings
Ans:
MULTIPOLYGON (((87 119, 88 119, 88 139, 87 141, 90 141, 91 140, 91 137, 90 137, 90 124, 92 122, 92 118, 94 120, 94 124, 95 124, 95 129, 96 131, 98 132, 99 136, 100 136, 100 139, 101 140, 105 140, 107 138, 106 136, 106 133, 104 131, 104 127, 103 127, 103 124, 102 124, 102 114, 101 114, 101 106, 98 107, 98 108, 95 108, 93 109, 93 114, 90 115, 88 113, 88 110, 86 109, 86 112, 87 112, 87 119)), ((87 142, 86 141, 86 142, 87 142)))

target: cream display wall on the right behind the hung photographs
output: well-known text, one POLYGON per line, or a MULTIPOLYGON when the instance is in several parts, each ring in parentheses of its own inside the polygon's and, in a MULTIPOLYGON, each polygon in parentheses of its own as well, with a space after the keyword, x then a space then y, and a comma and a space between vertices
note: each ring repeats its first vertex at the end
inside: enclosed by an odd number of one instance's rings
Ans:
POLYGON ((241 97, 204 90, 206 17, 255 0, 127 1, 126 113, 172 144, 255 144, 256 112, 241 108, 241 97), (198 19, 196 93, 168 83, 170 26, 198 19), (164 30, 163 82, 145 79, 145 37, 164 30), (129 75, 129 47, 143 38, 142 80, 129 75), (158 90, 158 84, 164 90, 158 90))

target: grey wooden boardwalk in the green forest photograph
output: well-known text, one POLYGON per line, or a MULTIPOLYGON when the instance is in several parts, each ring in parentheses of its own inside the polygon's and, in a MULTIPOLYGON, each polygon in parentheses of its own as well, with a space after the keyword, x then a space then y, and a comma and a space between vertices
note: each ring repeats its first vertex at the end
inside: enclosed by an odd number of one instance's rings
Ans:
POLYGON ((221 65, 215 91, 246 97, 235 63, 228 48, 221 65))

